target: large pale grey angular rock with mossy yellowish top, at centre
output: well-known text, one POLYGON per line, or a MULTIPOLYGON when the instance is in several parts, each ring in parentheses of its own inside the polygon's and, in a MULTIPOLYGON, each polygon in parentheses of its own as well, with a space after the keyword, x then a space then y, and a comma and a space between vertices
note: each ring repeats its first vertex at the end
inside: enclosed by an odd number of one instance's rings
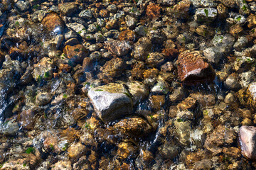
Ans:
POLYGON ((90 89, 87 95, 103 121, 122 118, 132 111, 132 96, 122 84, 98 86, 90 89))

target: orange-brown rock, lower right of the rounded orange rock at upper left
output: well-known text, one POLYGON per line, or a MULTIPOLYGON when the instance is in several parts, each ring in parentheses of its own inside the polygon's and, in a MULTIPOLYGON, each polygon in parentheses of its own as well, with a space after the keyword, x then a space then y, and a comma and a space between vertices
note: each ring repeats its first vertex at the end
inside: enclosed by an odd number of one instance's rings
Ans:
POLYGON ((87 57, 88 50, 81 44, 78 45, 66 45, 63 49, 66 57, 68 57, 73 62, 82 62, 82 60, 87 57))

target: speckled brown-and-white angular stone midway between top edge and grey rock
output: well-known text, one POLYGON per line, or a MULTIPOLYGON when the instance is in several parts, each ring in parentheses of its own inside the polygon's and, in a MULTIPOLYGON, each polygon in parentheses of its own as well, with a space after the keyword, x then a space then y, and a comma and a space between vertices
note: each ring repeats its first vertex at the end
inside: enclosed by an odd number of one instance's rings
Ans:
POLYGON ((127 41, 112 40, 105 42, 105 48, 112 52, 114 55, 123 56, 127 55, 132 47, 127 41))

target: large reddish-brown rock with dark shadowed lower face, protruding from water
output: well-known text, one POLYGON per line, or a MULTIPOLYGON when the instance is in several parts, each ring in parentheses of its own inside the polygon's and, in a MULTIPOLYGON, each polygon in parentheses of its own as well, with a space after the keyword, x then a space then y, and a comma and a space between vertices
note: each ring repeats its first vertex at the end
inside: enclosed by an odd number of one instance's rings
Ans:
POLYGON ((184 84, 195 84, 213 81, 215 72, 198 51, 182 52, 177 60, 178 77, 184 84))

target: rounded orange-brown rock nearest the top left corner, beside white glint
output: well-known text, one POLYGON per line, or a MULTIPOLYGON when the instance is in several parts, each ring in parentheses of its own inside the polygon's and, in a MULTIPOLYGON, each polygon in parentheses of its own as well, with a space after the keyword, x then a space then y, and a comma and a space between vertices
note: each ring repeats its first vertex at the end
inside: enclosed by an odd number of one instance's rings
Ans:
POLYGON ((49 31, 53 31, 55 28, 60 28, 62 31, 64 28, 64 22, 56 13, 49 13, 48 16, 43 18, 42 24, 49 31))

